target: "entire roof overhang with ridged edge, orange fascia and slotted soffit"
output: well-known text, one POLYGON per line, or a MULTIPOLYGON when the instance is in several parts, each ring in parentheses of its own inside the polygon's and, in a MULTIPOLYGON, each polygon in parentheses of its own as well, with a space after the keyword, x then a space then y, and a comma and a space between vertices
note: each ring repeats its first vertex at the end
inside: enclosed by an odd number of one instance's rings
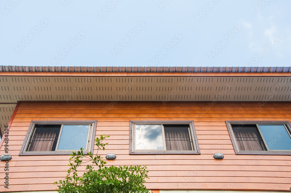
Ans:
POLYGON ((290 67, 0 67, 2 106, 17 101, 291 101, 290 95, 290 67))

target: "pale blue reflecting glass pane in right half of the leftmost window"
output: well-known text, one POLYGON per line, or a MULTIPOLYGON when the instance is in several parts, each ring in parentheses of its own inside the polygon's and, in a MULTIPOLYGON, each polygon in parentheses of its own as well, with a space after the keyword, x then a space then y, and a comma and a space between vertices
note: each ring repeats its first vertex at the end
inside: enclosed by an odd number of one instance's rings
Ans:
POLYGON ((90 125, 64 125, 58 150, 86 149, 90 125))

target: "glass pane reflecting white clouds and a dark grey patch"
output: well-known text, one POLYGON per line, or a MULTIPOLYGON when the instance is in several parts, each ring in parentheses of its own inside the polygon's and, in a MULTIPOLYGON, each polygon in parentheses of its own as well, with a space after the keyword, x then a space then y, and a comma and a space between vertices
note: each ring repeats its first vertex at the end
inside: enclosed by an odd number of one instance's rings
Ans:
POLYGON ((162 125, 136 125, 136 149, 164 149, 162 125))

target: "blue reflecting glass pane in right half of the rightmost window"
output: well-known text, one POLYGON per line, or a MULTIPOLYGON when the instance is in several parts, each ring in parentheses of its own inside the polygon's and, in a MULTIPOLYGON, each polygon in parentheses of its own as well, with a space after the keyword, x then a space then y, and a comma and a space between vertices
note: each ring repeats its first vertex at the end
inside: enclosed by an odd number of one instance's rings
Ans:
POLYGON ((291 138, 284 125, 259 125, 270 150, 291 150, 291 138))

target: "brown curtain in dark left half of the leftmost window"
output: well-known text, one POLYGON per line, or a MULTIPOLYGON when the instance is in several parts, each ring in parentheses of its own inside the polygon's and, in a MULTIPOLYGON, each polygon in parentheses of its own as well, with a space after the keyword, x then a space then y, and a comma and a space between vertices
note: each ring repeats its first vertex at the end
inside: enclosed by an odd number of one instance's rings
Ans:
POLYGON ((55 151, 60 127, 42 126, 36 127, 27 151, 55 151))

